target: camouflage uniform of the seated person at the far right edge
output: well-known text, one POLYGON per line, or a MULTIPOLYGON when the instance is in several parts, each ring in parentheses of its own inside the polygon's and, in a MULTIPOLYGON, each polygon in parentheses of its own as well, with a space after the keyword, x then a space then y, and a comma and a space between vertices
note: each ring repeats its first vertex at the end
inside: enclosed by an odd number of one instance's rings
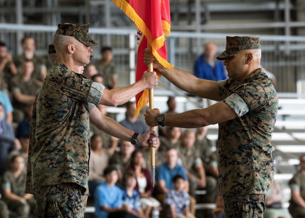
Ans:
MULTIPOLYGON (((305 201, 305 175, 300 171, 296 173, 289 181, 291 190, 300 191, 300 195, 305 201)), ((295 218, 304 218, 305 209, 297 205, 294 201, 290 200, 289 213, 295 218)))

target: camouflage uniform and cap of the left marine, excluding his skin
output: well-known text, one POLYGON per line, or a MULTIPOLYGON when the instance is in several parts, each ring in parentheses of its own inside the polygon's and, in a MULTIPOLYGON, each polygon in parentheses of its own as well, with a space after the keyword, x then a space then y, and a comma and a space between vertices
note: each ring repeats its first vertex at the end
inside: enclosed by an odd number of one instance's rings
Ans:
MULTIPOLYGON (((95 45, 88 27, 58 24, 56 34, 95 45)), ((67 200, 75 201, 77 211, 73 209, 75 214, 71 214, 64 209, 60 213, 83 217, 83 199, 88 193, 89 111, 99 104, 103 89, 103 85, 70 71, 59 60, 47 74, 34 102, 27 165, 26 192, 38 199, 38 217, 45 215, 45 209, 49 215, 56 213, 53 203, 59 201, 55 204, 63 208, 67 200)))

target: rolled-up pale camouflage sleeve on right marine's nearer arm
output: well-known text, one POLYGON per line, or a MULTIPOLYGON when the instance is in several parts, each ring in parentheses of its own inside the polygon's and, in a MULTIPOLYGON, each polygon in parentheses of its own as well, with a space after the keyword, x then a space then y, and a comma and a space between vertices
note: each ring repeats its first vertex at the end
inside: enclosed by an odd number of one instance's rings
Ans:
POLYGON ((235 111, 238 117, 241 117, 249 111, 247 104, 236 93, 228 96, 225 100, 223 100, 223 102, 226 103, 233 111, 235 111))

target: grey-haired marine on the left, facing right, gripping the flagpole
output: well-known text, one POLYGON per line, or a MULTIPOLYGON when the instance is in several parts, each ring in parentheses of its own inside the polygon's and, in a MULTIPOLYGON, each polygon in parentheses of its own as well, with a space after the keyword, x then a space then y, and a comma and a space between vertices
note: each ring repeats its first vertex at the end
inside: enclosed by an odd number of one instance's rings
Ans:
MULTIPOLYGON (((53 43, 57 60, 39 90, 31 120, 26 192, 37 202, 37 217, 83 217, 88 193, 89 120, 106 133, 131 141, 134 132, 104 117, 97 104, 116 106, 143 89, 157 85, 155 72, 140 82, 105 90, 80 73, 89 64, 89 24, 58 24, 53 43)), ((139 145, 155 147, 157 134, 137 137, 139 145)))

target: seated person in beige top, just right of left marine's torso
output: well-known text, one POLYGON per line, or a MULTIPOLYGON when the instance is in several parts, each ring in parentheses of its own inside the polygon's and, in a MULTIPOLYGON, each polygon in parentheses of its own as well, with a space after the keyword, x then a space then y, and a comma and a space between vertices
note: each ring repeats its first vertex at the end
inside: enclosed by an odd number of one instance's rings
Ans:
POLYGON ((109 163, 109 154, 103 150, 103 139, 99 135, 91 137, 90 148, 88 186, 89 193, 93 194, 95 188, 105 181, 103 173, 109 163))

